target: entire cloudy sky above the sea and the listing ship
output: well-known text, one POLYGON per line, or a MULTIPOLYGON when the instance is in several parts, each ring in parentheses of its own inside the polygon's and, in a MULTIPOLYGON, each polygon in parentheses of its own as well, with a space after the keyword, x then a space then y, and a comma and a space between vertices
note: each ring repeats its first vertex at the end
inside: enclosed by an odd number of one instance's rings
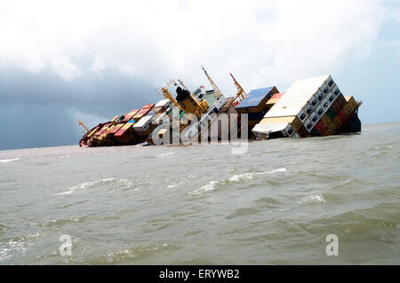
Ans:
POLYGON ((77 145, 88 128, 191 90, 284 92, 332 75, 363 123, 399 122, 400 0, 0 0, 0 150, 77 145))

